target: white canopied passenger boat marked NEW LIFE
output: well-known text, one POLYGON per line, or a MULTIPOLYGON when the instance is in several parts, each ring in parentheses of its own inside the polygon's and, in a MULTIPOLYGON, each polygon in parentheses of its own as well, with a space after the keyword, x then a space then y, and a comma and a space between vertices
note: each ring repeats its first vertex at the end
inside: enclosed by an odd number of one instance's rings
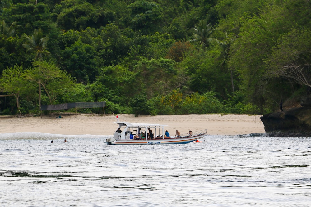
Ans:
MULTIPOLYGON (((155 145, 155 144, 187 144, 201 139, 207 130, 193 132, 192 136, 180 134, 180 137, 166 137, 164 124, 113 122, 119 125, 111 138, 105 143, 109 145, 155 145), (148 137, 148 128, 154 133, 154 139, 148 137)), ((152 136, 151 136, 152 137, 152 136)))

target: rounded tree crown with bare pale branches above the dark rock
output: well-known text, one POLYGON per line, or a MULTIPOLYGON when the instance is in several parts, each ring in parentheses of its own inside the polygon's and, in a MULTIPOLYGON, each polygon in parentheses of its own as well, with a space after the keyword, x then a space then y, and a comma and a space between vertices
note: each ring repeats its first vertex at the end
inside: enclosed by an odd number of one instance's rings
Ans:
POLYGON ((273 77, 287 79, 311 87, 311 31, 309 28, 292 29, 282 35, 266 60, 273 77))

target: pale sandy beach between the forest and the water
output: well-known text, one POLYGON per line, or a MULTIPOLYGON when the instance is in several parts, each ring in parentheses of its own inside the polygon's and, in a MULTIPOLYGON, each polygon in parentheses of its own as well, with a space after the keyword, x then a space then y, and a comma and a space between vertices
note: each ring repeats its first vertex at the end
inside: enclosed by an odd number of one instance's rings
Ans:
MULTIPOLYGON (((149 116, 119 114, 119 121, 134 123, 166 124, 170 135, 176 129, 187 133, 207 129, 210 135, 239 135, 265 133, 261 115, 163 115, 149 116)), ((61 119, 55 116, 40 117, 0 117, 0 133, 41 132, 65 135, 112 135, 118 128, 116 115, 64 114, 61 119)))

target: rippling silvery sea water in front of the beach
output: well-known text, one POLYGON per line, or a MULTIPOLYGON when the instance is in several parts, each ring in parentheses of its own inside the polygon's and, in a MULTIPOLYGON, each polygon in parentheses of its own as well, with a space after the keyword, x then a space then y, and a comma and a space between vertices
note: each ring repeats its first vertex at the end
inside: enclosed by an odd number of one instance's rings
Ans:
POLYGON ((311 205, 311 138, 114 146, 107 137, 0 134, 0 206, 311 205))

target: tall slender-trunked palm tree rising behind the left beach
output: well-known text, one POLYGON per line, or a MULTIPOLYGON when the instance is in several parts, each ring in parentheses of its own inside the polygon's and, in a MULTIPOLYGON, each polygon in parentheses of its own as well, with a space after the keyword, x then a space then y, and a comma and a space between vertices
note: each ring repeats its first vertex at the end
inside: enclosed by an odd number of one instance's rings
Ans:
MULTIPOLYGON (((23 47, 25 47, 27 49, 27 52, 35 52, 36 56, 35 56, 35 60, 39 60, 42 61, 42 57, 44 53, 49 53, 46 50, 46 44, 49 40, 48 37, 43 37, 43 32, 41 30, 41 28, 39 28, 38 30, 35 29, 34 30, 34 34, 29 37, 27 35, 24 36, 26 38, 26 43, 23 44, 23 47)), ((41 68, 39 66, 39 73, 41 71, 41 68)), ((41 78, 40 78, 40 74, 39 74, 39 79, 37 80, 37 82, 39 83, 39 110, 41 112, 41 78)), ((41 113, 40 113, 41 114, 41 113)), ((41 118, 42 118, 42 114, 41 114, 41 118)))

